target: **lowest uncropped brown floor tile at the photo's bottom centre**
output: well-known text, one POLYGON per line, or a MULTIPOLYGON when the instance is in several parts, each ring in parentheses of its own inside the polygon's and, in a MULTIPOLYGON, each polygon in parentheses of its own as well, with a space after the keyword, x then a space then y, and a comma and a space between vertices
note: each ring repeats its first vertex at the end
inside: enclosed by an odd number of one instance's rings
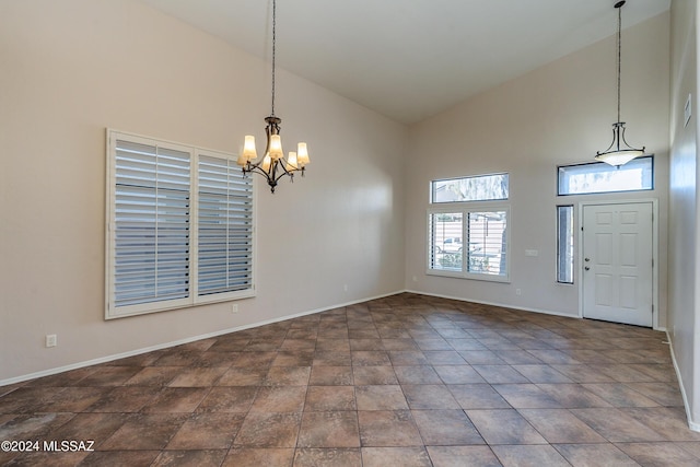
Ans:
POLYGON ((304 412, 299 447, 360 447, 355 411, 304 412))

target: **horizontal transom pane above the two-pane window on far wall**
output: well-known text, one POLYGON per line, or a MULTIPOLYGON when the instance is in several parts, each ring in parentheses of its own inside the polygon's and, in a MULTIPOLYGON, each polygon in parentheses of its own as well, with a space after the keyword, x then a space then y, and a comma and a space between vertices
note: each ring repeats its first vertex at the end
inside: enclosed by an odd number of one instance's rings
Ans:
POLYGON ((508 174, 480 175, 431 182, 432 202, 508 199, 508 174))

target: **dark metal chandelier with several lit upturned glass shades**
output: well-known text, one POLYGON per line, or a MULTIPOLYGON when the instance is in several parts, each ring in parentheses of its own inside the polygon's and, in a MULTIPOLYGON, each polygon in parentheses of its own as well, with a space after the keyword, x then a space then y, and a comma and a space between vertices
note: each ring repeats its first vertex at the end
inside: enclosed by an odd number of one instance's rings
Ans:
POLYGON ((290 151, 287 157, 284 157, 284 152, 282 151, 282 140, 280 138, 280 124, 282 119, 275 115, 276 23, 277 0, 272 0, 272 108, 270 116, 265 117, 265 121, 267 122, 265 127, 265 133, 267 136, 265 155, 256 162, 258 154, 255 150, 255 137, 247 135, 243 144, 243 152, 241 152, 236 161, 237 164, 242 166, 244 176, 247 173, 256 173, 264 176, 272 192, 275 192, 278 180, 283 176, 289 175, 292 182, 294 180, 294 172, 301 172, 302 176, 304 176, 304 171, 310 162, 305 142, 300 142, 296 147, 296 152, 290 151))

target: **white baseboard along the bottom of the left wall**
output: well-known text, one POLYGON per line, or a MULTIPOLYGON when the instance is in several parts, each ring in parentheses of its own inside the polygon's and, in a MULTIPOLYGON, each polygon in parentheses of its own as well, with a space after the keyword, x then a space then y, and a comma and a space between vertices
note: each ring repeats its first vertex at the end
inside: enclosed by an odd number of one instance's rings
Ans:
POLYGON ((112 361, 115 361, 115 360, 126 359, 126 358, 129 358, 129 357, 140 355, 141 353, 152 352, 154 350, 168 349, 171 347, 182 346, 183 343, 189 343, 189 342, 194 342, 194 341, 201 340, 201 339, 209 339, 211 337, 223 336, 225 334, 236 332, 236 331, 240 331, 240 330, 250 329, 250 328, 265 326, 265 325, 279 323, 279 322, 285 322, 288 319, 293 319, 293 318, 298 318, 298 317, 301 317, 301 316, 313 315, 313 314, 316 314, 316 313, 323 313, 323 312, 327 312, 327 311, 330 311, 330 310, 339 308, 339 307, 342 307, 342 306, 350 306, 350 305, 355 305, 358 303, 369 302, 369 301, 372 301, 372 300, 384 299, 384 297, 392 296, 392 295, 397 295, 397 294, 404 293, 404 292, 406 292, 406 291, 405 290, 399 290, 399 291, 396 291, 396 292, 389 292, 389 293, 382 294, 382 295, 375 295, 375 296, 360 299, 360 300, 355 300, 355 301, 351 301, 351 302, 346 302, 346 303, 340 303, 340 304, 336 304, 336 305, 331 305, 331 306, 326 306, 326 307, 322 307, 322 308, 315 308, 315 310, 311 310, 308 312, 295 313, 293 315, 287 315, 287 316, 282 316, 282 317, 279 317, 279 318, 266 319, 266 320, 262 320, 262 322, 252 323, 252 324, 244 325, 244 326, 237 326, 237 327, 233 327, 233 328, 221 329, 221 330, 217 330, 217 331, 213 331, 213 332, 202 334, 202 335, 199 335, 199 336, 192 336, 192 337, 187 337, 187 338, 184 338, 184 339, 178 339, 178 340, 174 340, 174 341, 170 341, 170 342, 158 343, 155 346, 144 347, 144 348, 137 349, 137 350, 129 350, 129 351, 122 352, 122 353, 116 353, 116 354, 112 354, 112 355, 107 355, 107 357, 101 357, 101 358, 97 358, 97 359, 86 360, 86 361, 83 361, 83 362, 71 363, 69 365, 57 366, 57 367, 49 369, 49 370, 43 370, 43 371, 39 371, 39 372, 30 373, 30 374, 25 374, 25 375, 21 375, 21 376, 15 376, 15 377, 11 377, 11 378, 8 378, 8 380, 0 380, 0 387, 8 386, 10 384, 22 383, 22 382, 34 380, 34 378, 37 378, 37 377, 50 376, 50 375, 54 375, 54 374, 57 374, 57 373, 63 373, 63 372, 71 371, 71 370, 78 370, 78 369, 82 369, 82 367, 85 367, 85 366, 91 366, 91 365, 96 365, 96 364, 101 364, 101 363, 112 362, 112 361))

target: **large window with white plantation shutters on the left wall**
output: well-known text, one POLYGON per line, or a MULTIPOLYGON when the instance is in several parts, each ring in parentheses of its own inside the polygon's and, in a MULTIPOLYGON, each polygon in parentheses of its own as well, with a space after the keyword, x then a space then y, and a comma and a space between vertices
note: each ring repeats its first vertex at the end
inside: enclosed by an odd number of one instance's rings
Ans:
POLYGON ((230 154, 107 132, 107 318, 252 296, 252 177, 230 154))

